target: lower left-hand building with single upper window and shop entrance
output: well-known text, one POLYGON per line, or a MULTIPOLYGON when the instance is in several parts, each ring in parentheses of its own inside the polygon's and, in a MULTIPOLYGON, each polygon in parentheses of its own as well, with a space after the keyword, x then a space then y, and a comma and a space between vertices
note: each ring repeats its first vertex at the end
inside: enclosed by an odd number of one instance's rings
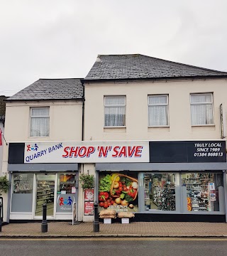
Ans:
POLYGON ((72 203, 78 200, 78 164, 58 164, 55 159, 33 164, 33 160, 55 154, 63 142, 82 140, 83 104, 79 79, 40 79, 9 97, 5 124, 9 146, 4 149, 3 169, 11 190, 5 221, 38 220, 43 203, 48 218, 72 219, 72 203), (41 150, 40 143, 47 147, 41 150))

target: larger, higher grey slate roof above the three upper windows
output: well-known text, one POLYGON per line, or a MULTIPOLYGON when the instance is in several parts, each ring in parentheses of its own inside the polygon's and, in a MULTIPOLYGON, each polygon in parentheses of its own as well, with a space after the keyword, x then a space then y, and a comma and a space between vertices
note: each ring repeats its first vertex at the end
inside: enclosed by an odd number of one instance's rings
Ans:
POLYGON ((98 55, 86 80, 157 79, 223 76, 226 72, 198 68, 140 54, 98 55))

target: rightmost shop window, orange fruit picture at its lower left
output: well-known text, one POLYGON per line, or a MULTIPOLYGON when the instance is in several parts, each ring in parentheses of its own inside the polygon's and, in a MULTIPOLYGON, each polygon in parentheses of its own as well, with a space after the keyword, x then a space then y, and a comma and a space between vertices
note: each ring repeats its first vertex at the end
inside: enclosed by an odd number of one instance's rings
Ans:
POLYGON ((182 186, 187 189, 188 211, 218 211, 222 174, 182 174, 182 186))

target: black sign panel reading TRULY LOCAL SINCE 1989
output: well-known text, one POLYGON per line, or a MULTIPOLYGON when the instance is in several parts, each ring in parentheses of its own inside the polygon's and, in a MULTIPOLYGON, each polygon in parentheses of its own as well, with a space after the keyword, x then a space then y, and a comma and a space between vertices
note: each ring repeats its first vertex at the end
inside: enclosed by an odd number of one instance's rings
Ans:
POLYGON ((225 141, 150 142, 151 163, 226 162, 225 141))

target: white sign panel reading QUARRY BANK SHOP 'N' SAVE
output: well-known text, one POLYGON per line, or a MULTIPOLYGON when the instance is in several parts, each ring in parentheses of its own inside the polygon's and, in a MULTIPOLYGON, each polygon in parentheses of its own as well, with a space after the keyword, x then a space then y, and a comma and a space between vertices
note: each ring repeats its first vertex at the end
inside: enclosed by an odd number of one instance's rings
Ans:
POLYGON ((149 162, 149 142, 26 143, 24 163, 149 162))

